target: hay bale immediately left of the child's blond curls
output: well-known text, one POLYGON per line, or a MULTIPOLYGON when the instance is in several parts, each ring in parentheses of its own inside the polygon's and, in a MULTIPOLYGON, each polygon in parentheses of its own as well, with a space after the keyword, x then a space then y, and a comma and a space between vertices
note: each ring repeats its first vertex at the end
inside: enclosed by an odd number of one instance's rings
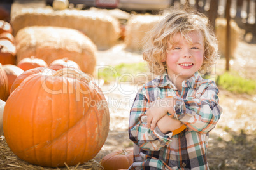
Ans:
POLYGON ((141 51, 143 38, 153 25, 162 18, 160 15, 138 14, 131 16, 126 25, 125 45, 129 51, 141 51))

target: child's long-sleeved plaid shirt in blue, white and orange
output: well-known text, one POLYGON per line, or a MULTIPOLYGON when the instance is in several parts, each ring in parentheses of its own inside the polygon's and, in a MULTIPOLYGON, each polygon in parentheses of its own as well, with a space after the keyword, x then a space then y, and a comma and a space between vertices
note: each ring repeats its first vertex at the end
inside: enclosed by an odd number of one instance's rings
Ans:
POLYGON ((139 89, 130 112, 129 137, 134 142, 134 163, 129 169, 208 169, 206 150, 208 133, 215 127, 222 108, 218 105, 214 81, 196 72, 182 82, 182 91, 167 73, 139 89), (163 134, 158 126, 146 126, 146 110, 159 98, 172 96, 174 117, 187 128, 179 134, 163 134))

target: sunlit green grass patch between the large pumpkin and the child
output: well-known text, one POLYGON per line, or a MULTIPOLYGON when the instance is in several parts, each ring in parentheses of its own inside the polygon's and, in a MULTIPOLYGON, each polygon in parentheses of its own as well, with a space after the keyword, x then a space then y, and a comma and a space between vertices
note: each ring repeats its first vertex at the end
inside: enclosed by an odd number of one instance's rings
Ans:
POLYGON ((97 70, 97 78, 103 79, 104 82, 111 81, 132 82, 136 74, 149 72, 145 62, 140 63, 121 63, 113 67, 106 66, 97 70))

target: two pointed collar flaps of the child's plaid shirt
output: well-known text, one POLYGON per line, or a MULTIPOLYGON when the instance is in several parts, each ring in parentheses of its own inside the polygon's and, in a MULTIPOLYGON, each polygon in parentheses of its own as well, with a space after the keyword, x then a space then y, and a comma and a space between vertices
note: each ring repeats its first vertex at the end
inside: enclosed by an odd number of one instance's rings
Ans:
MULTIPOLYGON (((196 72, 192 77, 182 82, 182 87, 196 88, 197 82, 199 82, 201 79, 202 78, 200 74, 196 72)), ((164 74, 157 76, 155 78, 154 84, 158 87, 171 86, 172 89, 177 90, 176 86, 174 86, 173 82, 171 82, 171 80, 169 79, 167 72, 164 72, 164 74)))

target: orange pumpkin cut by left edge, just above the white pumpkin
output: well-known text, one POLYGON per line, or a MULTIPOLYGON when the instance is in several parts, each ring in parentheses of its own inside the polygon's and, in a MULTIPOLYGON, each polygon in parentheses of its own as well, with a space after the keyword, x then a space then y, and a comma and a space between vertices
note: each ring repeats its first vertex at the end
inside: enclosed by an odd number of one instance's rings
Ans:
POLYGON ((3 66, 0 63, 0 99, 6 101, 8 98, 8 79, 3 66))

